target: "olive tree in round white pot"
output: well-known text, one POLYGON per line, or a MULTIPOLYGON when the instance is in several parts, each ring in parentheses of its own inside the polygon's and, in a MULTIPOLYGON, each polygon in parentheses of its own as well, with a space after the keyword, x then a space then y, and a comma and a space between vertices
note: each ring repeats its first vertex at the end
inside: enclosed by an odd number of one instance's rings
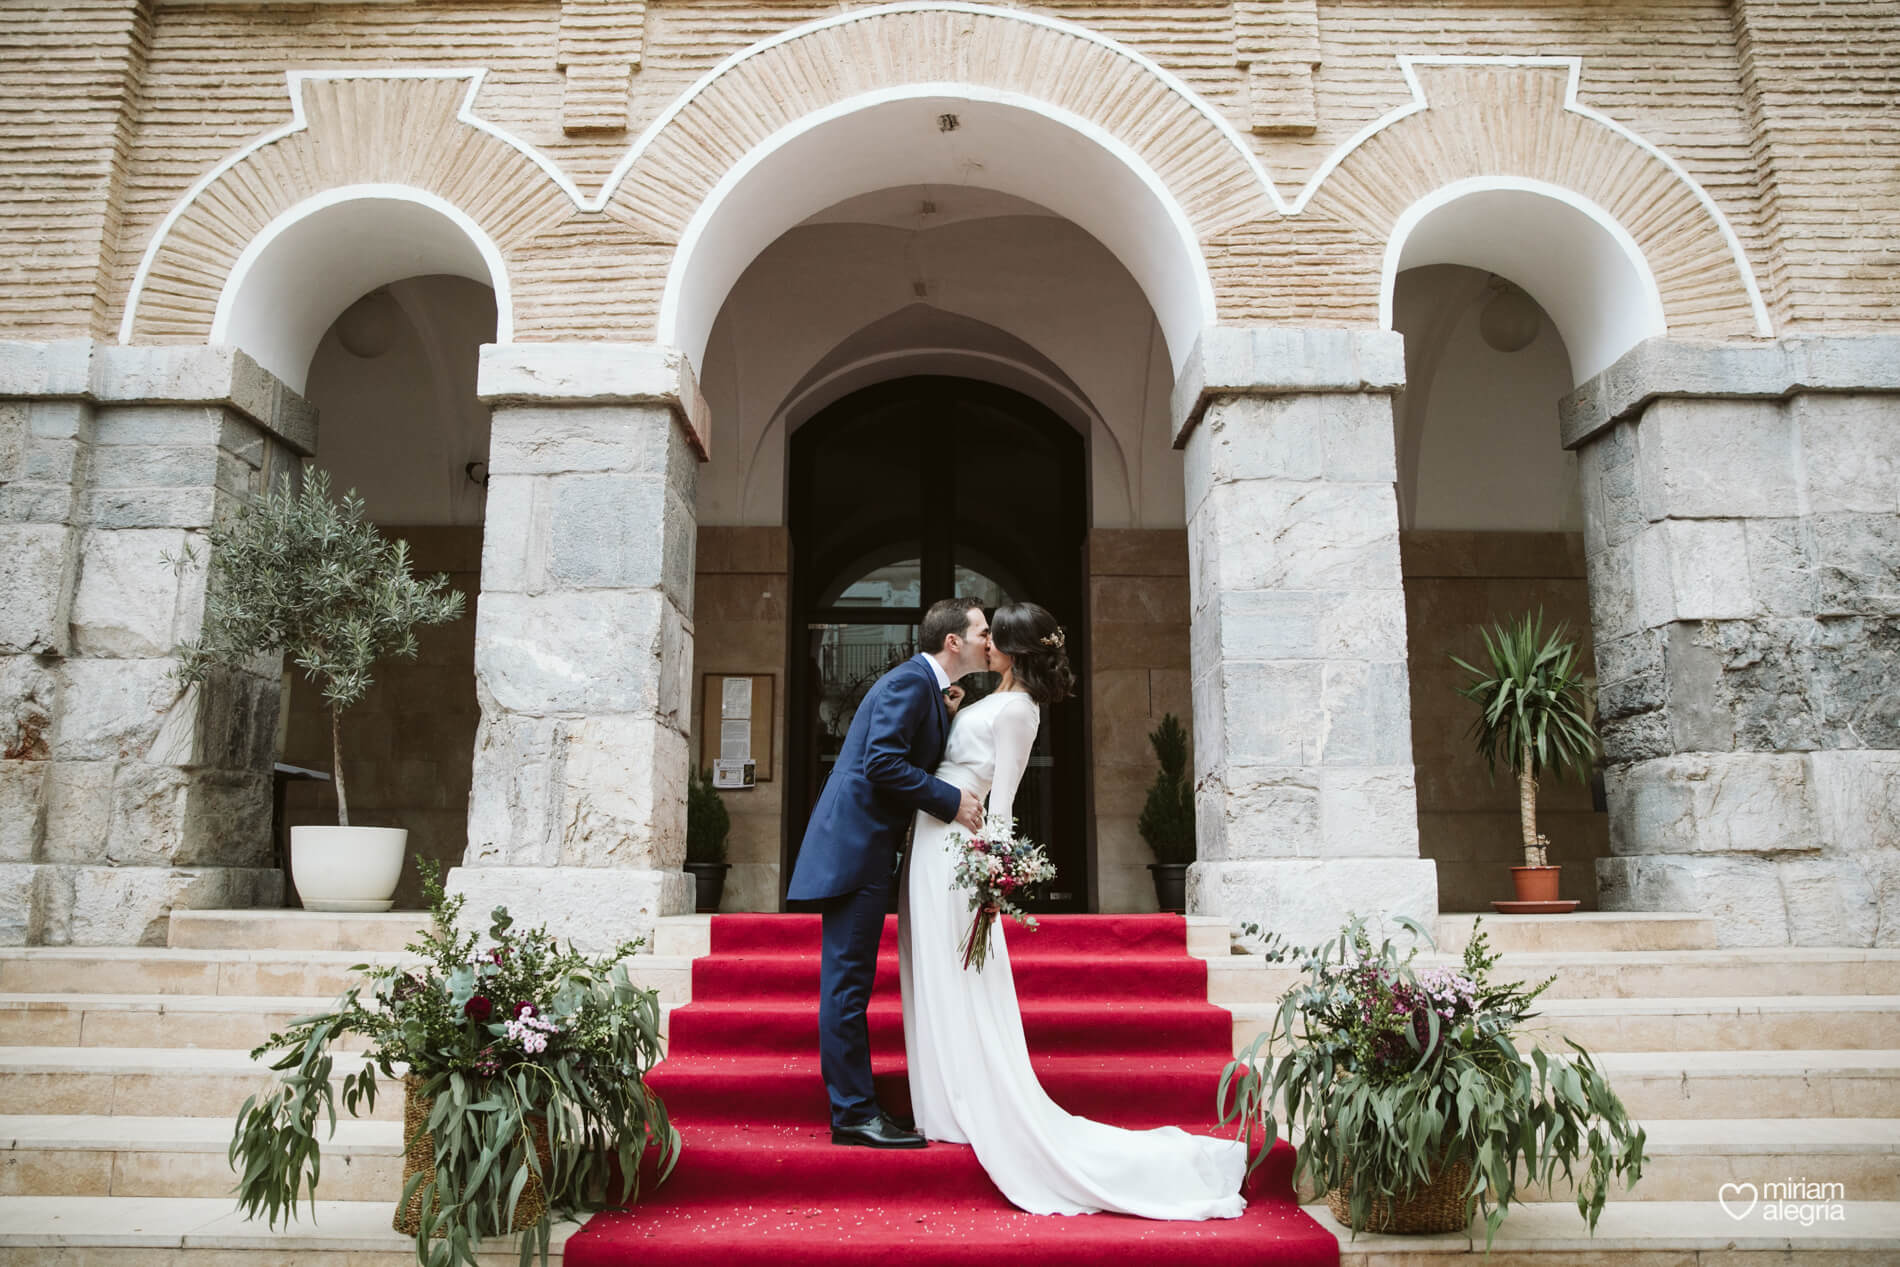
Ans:
POLYGON ((408 543, 365 520, 355 490, 332 501, 323 471, 300 492, 285 475, 207 541, 203 633, 180 648, 179 676, 196 684, 276 653, 304 672, 331 714, 336 826, 291 828, 291 876, 306 910, 390 910, 408 832, 350 824, 342 714, 369 693, 378 659, 414 657, 416 625, 456 619, 464 598, 445 576, 410 576, 408 543))

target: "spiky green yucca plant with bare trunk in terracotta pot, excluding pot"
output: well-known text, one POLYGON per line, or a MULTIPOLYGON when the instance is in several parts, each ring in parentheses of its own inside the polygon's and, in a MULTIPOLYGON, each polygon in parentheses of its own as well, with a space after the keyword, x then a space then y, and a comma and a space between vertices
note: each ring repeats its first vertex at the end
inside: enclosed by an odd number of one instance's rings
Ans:
POLYGON ((1537 775, 1569 767, 1586 781, 1598 750, 1596 731, 1585 716, 1588 691, 1577 672, 1577 644, 1562 621, 1545 634, 1543 612, 1478 633, 1490 667, 1452 655, 1454 665, 1472 674, 1457 691, 1478 705, 1469 733, 1493 779, 1499 764, 1518 777, 1524 864, 1547 866, 1545 842, 1537 834, 1537 775))

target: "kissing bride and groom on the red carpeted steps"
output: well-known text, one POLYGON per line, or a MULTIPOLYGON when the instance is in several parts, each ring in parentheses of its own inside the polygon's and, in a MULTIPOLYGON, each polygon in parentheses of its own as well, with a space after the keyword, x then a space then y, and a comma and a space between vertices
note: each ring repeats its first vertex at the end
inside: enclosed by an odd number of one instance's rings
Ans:
POLYGON ((1064 640, 1034 602, 999 606, 992 625, 978 600, 944 598, 923 614, 923 650, 878 678, 851 718, 787 891, 825 914, 819 1066, 832 1144, 967 1144, 1030 1214, 1237 1218, 1241 1140, 1123 1130, 1064 1111, 1030 1066, 1001 921, 988 929, 984 971, 965 971, 958 954, 969 900, 956 887, 956 834, 1011 817, 1041 710, 1075 686, 1064 640), (944 693, 982 671, 1001 682, 952 724, 944 693), (914 1125, 878 1107, 864 1018, 906 832, 897 936, 914 1125))

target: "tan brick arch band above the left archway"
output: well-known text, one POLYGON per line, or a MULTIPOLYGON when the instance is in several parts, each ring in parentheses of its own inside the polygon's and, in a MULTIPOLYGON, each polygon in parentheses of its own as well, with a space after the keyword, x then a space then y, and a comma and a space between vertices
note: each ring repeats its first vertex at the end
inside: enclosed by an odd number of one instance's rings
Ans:
POLYGON ((572 184, 471 114, 481 78, 481 70, 293 72, 293 122, 207 173, 154 232, 120 342, 209 342, 218 300, 251 243, 332 190, 420 190, 466 215, 504 264, 570 220, 580 201, 572 184))

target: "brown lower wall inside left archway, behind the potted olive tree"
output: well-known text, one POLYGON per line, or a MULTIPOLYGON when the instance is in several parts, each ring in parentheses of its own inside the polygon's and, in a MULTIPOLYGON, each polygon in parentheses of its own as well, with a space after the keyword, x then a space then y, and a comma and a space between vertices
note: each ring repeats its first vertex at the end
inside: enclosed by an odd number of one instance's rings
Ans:
MULTIPOLYGON (((378 524, 408 541, 418 576, 446 574, 467 598, 462 619, 416 631, 416 659, 388 659, 359 705, 344 714, 344 781, 353 826, 408 830, 408 859, 395 889, 399 910, 422 906, 420 859, 446 872, 467 849, 469 775, 475 728, 475 621, 481 591, 481 528, 378 524)), ((315 688, 291 669, 283 760, 331 769, 331 714, 315 688)), ((285 788, 285 832, 298 824, 336 823, 329 783, 294 781, 285 788)), ((289 836, 285 836, 289 840, 289 836)), ((296 876, 289 878, 293 893, 296 876)))

